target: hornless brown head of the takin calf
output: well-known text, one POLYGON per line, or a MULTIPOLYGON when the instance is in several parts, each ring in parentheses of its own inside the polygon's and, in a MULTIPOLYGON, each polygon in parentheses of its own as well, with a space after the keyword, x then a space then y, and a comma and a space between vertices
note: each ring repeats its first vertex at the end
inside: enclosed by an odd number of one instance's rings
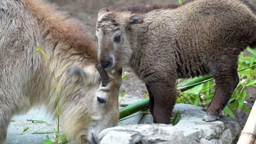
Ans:
MULTIPOLYGON (((98 59, 105 69, 122 67, 130 63, 133 55, 131 27, 141 24, 143 19, 128 12, 109 12, 102 8, 98 13, 96 36, 98 59)), ((134 32, 134 29, 133 29, 134 32)))

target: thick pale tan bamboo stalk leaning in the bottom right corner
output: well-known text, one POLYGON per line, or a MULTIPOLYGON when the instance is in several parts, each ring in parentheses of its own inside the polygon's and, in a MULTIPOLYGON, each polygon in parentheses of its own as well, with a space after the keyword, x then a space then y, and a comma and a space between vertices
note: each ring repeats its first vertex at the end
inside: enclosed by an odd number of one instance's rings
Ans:
POLYGON ((237 144, 256 144, 256 102, 253 104, 237 144))

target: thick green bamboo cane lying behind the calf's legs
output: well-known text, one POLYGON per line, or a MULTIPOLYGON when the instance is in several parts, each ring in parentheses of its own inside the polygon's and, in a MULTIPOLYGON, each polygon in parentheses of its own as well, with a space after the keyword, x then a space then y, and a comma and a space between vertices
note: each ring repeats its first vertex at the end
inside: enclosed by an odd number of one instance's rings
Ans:
MULTIPOLYGON (((244 69, 240 69, 240 70, 238 70, 238 72, 245 70, 245 69, 249 69, 254 66, 256 66, 256 64, 249 66, 249 67, 245 67, 244 69)), ((188 80, 187 82, 183 83, 177 89, 179 91, 183 92, 183 91, 189 90, 190 88, 193 88, 197 85, 200 85, 202 83, 205 83, 205 82, 208 82, 211 80, 213 80, 211 75, 195 77, 195 78, 192 78, 192 79, 188 80)), ((138 102, 130 104, 126 107, 123 107, 122 109, 119 110, 119 119, 127 117, 131 114, 134 114, 134 113, 140 111, 140 110, 146 109, 148 106, 149 106, 149 98, 145 98, 138 102)))

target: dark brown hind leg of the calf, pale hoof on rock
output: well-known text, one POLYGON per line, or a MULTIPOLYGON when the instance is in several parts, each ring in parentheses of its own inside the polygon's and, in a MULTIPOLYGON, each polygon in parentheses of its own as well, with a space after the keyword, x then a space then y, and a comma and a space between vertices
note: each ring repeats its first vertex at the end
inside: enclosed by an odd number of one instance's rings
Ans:
POLYGON ((221 63, 214 67, 212 75, 216 81, 216 91, 203 117, 206 122, 213 122, 223 116, 222 110, 239 83, 237 64, 231 64, 231 62, 221 63))

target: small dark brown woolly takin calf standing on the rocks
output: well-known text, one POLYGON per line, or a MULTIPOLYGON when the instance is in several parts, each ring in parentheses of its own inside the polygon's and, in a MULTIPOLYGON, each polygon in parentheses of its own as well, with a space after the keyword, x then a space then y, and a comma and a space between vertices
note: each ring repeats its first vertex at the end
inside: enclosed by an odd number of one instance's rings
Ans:
POLYGON ((216 92, 203 120, 212 122, 239 82, 238 55, 255 45, 255 12, 241 0, 102 8, 96 26, 99 62, 106 69, 133 68, 146 83, 155 123, 170 123, 178 78, 211 74, 216 92))

